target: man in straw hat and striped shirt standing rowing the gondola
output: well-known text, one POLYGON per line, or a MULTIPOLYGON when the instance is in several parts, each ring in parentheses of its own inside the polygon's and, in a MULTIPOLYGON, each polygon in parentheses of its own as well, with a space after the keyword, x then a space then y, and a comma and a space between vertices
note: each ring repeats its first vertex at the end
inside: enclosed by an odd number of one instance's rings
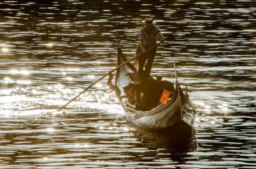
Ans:
POLYGON ((149 51, 146 51, 146 49, 150 48, 151 46, 157 43, 157 37, 159 37, 160 42, 163 43, 164 37, 161 34, 161 31, 159 30, 159 28, 155 26, 156 23, 153 21, 153 18, 146 17, 145 21, 143 21, 142 23, 145 26, 140 29, 140 34, 139 34, 140 43, 136 49, 136 55, 140 54, 141 52, 143 53, 143 55, 139 56, 138 58, 138 61, 139 61, 138 77, 141 79, 147 80, 151 72, 153 60, 157 52, 157 47, 149 51), (148 61, 145 66, 145 70, 143 70, 143 66, 146 60, 148 61))

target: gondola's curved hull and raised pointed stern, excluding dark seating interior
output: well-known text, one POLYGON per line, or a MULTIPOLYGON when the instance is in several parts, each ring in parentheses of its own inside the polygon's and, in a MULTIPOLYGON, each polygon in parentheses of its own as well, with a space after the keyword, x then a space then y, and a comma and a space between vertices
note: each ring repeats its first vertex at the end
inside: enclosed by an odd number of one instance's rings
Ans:
MULTIPOLYGON (((118 47, 117 56, 117 67, 127 61, 120 47, 118 47)), ((128 76, 132 73, 137 73, 137 68, 128 62, 121 68, 116 69, 115 78, 115 85, 121 93, 118 100, 125 111, 125 117, 128 121, 139 127, 157 131, 168 130, 177 126, 178 129, 182 127, 192 129, 195 121, 196 106, 189 101, 188 95, 183 93, 177 78, 172 97, 166 103, 159 103, 151 110, 140 111, 127 104, 124 90, 128 85, 136 83, 131 76, 128 76)), ((151 76, 150 78, 153 77, 151 76)))

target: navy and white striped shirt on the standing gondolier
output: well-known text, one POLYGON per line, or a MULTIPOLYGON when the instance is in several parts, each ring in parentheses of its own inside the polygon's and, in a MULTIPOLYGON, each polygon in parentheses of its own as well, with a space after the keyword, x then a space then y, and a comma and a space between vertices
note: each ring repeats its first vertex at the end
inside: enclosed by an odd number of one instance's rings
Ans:
POLYGON ((140 29, 139 39, 143 40, 145 46, 152 46, 157 43, 157 32, 159 31, 159 28, 153 25, 151 32, 148 34, 144 26, 140 29))

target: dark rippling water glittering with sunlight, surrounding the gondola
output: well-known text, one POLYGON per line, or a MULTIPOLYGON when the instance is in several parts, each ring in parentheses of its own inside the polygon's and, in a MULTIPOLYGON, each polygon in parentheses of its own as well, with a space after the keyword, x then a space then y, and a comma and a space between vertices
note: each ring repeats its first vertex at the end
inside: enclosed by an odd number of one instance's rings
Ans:
POLYGON ((1 0, 0 168, 256 168, 255 0, 1 0), (198 105, 189 138, 125 120, 106 79, 116 33, 134 56, 145 17, 166 42, 153 75, 198 105))

